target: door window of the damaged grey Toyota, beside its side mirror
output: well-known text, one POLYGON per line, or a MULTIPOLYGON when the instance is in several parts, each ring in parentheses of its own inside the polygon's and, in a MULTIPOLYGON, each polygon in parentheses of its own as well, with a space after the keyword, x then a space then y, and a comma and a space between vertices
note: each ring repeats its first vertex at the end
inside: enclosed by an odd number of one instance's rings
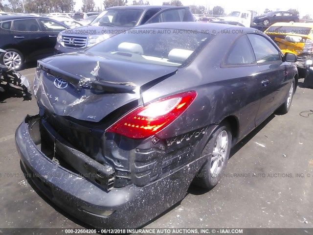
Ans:
POLYGON ((249 41, 253 48, 256 62, 268 63, 281 61, 280 51, 274 47, 265 37, 257 34, 248 34, 249 41))

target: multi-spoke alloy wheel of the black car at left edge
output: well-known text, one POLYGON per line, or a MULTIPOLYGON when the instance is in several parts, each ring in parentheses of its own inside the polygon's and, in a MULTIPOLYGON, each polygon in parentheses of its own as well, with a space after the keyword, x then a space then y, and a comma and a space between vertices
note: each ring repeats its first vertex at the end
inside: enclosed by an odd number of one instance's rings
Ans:
POLYGON ((21 70, 24 64, 24 56, 22 52, 17 49, 6 49, 6 53, 0 55, 0 63, 8 68, 21 70))

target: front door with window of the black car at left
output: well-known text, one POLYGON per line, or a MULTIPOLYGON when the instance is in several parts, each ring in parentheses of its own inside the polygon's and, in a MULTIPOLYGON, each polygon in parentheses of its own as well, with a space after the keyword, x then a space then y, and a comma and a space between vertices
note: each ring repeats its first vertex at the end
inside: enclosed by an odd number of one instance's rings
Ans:
POLYGON ((46 53, 51 54, 54 51, 58 34, 68 27, 51 19, 39 19, 38 21, 44 33, 42 40, 45 42, 46 53))

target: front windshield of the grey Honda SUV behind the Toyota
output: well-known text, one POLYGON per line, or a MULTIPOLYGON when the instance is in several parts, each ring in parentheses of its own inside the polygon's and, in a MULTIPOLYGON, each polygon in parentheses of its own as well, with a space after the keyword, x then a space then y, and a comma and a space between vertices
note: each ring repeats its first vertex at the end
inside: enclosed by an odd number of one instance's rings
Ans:
POLYGON ((91 25, 134 27, 142 11, 141 9, 108 9, 98 15, 91 25))

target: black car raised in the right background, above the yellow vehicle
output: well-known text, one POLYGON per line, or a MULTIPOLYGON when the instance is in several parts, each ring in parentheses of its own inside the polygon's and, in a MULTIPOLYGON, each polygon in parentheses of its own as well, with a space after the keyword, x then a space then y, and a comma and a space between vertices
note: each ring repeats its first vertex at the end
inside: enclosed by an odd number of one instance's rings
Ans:
POLYGON ((253 18, 254 24, 270 25, 277 22, 299 22, 299 16, 288 11, 271 11, 253 18))

